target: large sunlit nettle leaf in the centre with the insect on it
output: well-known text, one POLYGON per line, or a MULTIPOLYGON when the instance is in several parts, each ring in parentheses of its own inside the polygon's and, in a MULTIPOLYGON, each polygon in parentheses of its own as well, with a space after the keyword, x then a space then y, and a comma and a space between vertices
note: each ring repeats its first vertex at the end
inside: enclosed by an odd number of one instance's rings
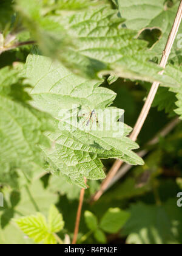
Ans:
POLYGON ((29 55, 24 76, 32 85, 33 106, 55 117, 56 132, 47 133, 52 148, 41 147, 49 171, 61 172, 67 180, 86 187, 84 176, 105 177, 100 158, 120 158, 132 165, 143 165, 143 160, 132 152, 137 144, 126 137, 130 127, 118 122, 123 110, 107 107, 115 99, 113 91, 99 87, 98 80, 76 76, 60 63, 38 54, 29 55), (92 110, 95 113, 87 126, 92 110))

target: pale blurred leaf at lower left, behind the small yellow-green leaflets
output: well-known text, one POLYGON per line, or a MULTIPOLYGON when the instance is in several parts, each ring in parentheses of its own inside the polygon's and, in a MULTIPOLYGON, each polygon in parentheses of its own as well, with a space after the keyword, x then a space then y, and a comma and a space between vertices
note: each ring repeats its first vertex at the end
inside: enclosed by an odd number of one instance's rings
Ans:
POLYGON ((3 191, 5 205, 0 212, 0 243, 1 244, 29 244, 33 240, 24 235, 13 219, 22 216, 36 215, 41 212, 47 215, 51 204, 58 202, 58 195, 45 189, 41 181, 36 180, 29 186, 23 186, 19 190, 19 200, 15 199, 15 193, 9 190, 3 191), (16 205, 15 205, 16 200, 16 205), (11 203, 13 202, 13 204, 11 203))

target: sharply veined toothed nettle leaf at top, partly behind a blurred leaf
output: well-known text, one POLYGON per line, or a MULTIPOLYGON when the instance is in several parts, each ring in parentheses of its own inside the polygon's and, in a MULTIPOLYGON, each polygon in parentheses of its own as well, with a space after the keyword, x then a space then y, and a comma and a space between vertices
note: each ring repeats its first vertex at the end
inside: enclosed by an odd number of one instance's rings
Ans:
POLYGON ((104 5, 56 21, 76 40, 77 49, 66 52, 67 59, 89 76, 102 71, 101 74, 175 85, 170 76, 158 74, 161 67, 149 61, 153 55, 146 51, 147 42, 136 39, 137 32, 124 27, 116 10, 104 5))

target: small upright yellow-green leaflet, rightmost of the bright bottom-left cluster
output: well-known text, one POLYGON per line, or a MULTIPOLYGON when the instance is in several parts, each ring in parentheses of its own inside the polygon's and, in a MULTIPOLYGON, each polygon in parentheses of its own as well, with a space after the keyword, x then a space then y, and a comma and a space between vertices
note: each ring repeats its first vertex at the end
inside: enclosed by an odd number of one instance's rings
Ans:
POLYGON ((51 233, 58 233, 64 227, 62 215, 59 213, 55 205, 52 205, 49 210, 49 230, 51 233))

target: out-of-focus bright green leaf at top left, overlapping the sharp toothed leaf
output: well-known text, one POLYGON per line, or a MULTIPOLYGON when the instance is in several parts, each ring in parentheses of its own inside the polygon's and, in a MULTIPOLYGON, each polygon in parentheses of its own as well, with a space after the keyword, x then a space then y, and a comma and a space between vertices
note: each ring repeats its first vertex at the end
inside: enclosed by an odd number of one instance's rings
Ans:
MULTIPOLYGON (((16 19, 21 23, 21 29, 17 30, 22 30, 22 27, 27 29, 30 32, 30 37, 36 40, 45 55, 59 59, 69 65, 64 59, 63 53, 68 51, 70 46, 76 46, 76 44, 74 38, 69 37, 64 27, 54 17, 56 15, 62 17, 68 12, 90 8, 100 4, 100 1, 32 0, 30 3, 28 0, 16 0, 15 3, 16 19)), ((16 23, 18 22, 16 21, 16 23)), ((18 35, 16 35, 16 39, 18 39, 18 35)))

